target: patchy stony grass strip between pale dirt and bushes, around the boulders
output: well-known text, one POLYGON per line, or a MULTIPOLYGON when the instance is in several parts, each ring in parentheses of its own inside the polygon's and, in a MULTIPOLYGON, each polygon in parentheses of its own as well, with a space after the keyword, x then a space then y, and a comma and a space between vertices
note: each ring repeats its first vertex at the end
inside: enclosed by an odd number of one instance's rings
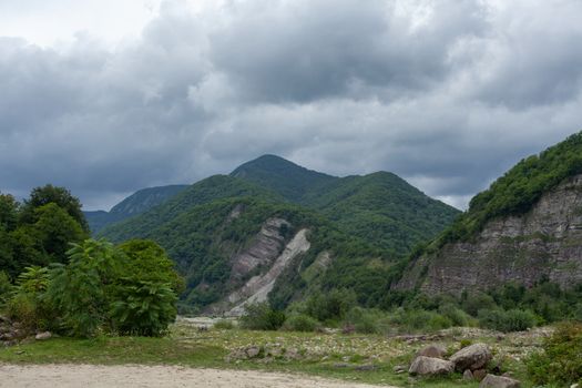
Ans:
POLYGON ((460 346, 462 338, 472 343, 488 343, 496 359, 503 359, 506 369, 528 382, 522 359, 539 348, 541 337, 537 333, 507 335, 502 338, 493 331, 478 329, 450 329, 438 338, 382 337, 378 335, 343 335, 288 331, 251 331, 242 329, 210 329, 198 331, 195 327, 178 324, 164 338, 98 337, 94 339, 51 338, 29 341, 0 349, 0 363, 9 364, 141 364, 181 365, 188 367, 261 369, 302 372, 347 381, 398 387, 477 387, 461 380, 460 375, 439 379, 411 379, 408 374, 396 374, 396 365, 408 365, 420 347, 440 343, 451 351, 460 346), (295 348, 302 354, 297 360, 274 358, 236 360, 227 363, 225 356, 247 346, 278 344, 280 348, 295 348), (358 370, 361 366, 372 370, 358 370))

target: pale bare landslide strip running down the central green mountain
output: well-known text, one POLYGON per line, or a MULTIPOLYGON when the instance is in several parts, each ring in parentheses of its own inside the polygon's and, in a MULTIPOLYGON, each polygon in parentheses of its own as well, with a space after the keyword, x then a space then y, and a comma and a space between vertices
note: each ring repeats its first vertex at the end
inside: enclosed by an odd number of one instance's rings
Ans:
POLYGON ((309 249, 310 244, 307 239, 307 229, 297 232, 266 274, 253 276, 241 289, 228 296, 231 304, 243 300, 243 303, 231 309, 228 315, 239 316, 243 314, 246 304, 265 302, 267 299, 268 293, 273 289, 277 277, 283 273, 285 267, 294 257, 309 249))

